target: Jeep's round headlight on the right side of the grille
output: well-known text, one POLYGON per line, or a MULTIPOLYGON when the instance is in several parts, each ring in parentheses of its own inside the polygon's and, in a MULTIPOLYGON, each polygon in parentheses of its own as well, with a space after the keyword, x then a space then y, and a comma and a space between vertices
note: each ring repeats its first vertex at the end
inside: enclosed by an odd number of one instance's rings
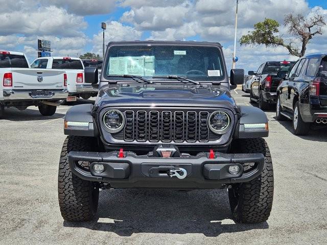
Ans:
POLYGON ((211 113, 208 121, 209 128, 216 134, 225 133, 229 128, 229 115, 224 111, 215 111, 211 113))

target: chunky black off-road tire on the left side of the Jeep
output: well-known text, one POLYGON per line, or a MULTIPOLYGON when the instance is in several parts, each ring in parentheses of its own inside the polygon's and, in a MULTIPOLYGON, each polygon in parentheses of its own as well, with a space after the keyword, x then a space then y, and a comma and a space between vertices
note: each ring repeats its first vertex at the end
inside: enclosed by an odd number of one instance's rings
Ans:
MULTIPOLYGON (((75 176, 68 164, 71 151, 92 151, 95 142, 89 137, 68 136, 62 146, 58 172, 58 199, 61 216, 68 221, 91 220, 97 212, 99 187, 97 183, 75 176)), ((88 162, 82 162, 88 166, 88 162)))

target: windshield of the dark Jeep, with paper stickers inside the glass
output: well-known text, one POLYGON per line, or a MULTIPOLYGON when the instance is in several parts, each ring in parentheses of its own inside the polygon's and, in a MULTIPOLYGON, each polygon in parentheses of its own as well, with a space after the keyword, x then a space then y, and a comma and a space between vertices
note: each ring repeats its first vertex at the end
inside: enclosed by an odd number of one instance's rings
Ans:
MULTIPOLYGON (((220 81, 224 64, 217 47, 203 46, 113 46, 109 50, 105 76, 180 76, 195 81, 220 81)), ((161 79, 162 80, 162 79, 161 79)))

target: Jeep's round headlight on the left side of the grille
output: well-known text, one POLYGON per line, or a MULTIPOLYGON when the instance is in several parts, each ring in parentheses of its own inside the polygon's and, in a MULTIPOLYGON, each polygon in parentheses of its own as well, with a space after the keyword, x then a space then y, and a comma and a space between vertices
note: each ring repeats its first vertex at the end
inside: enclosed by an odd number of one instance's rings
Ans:
POLYGON ((125 117, 119 110, 109 110, 103 115, 103 123, 109 133, 117 133, 125 126, 125 117))

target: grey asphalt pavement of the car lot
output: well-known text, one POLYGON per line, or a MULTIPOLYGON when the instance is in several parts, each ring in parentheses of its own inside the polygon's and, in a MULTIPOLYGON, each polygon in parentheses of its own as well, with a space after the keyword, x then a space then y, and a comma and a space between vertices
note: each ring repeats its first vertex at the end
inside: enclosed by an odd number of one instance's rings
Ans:
MULTIPOLYGON (((252 106, 241 90, 231 93, 252 106)), ((267 222, 236 224, 227 190, 136 189, 100 191, 94 221, 64 222, 57 174, 69 107, 50 117, 11 108, 0 120, 0 244, 327 243, 327 129, 295 136, 274 111, 266 112, 275 180, 267 222)))

